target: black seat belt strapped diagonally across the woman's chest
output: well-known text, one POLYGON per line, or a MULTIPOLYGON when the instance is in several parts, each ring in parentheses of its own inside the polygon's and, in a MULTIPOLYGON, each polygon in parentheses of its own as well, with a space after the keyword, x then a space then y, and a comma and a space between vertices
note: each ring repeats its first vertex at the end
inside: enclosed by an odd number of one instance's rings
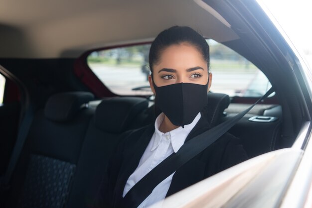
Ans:
POLYGON ((145 175, 138 183, 130 189, 122 201, 122 207, 137 208, 154 190, 154 188, 174 173, 178 168, 194 158, 209 145, 214 143, 219 137, 225 134, 232 126, 234 126, 251 108, 260 101, 266 99, 274 92, 271 88, 262 98, 246 110, 235 115, 232 119, 227 120, 184 143, 176 152, 169 155, 153 170, 145 175))

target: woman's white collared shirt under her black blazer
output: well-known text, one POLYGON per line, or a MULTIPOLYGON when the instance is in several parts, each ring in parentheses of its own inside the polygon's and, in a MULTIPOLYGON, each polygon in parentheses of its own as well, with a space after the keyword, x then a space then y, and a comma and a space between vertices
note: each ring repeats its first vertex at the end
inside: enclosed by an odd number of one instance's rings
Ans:
MULTIPOLYGON (((146 174, 155 168, 156 165, 158 165, 173 152, 177 152, 180 149, 180 147, 184 144, 187 135, 196 125, 200 117, 201 115, 199 112, 190 124, 184 125, 184 128, 180 126, 169 132, 163 133, 159 131, 159 126, 163 121, 164 114, 160 113, 158 115, 155 121, 155 132, 149 145, 145 149, 145 152, 139 162, 139 166, 127 180, 123 197, 125 197, 129 190, 138 181, 140 181, 146 174)), ((159 183, 153 192, 141 203, 138 208, 146 208, 158 201, 163 200, 169 190, 174 173, 159 183)))

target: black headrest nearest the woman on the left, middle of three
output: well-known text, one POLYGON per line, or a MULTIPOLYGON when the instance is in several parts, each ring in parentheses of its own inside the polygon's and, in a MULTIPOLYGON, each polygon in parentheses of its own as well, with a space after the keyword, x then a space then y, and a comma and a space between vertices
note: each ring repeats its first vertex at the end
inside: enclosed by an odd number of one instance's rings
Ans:
POLYGON ((120 133, 127 130, 131 121, 143 110, 149 101, 145 98, 118 97, 103 100, 94 114, 95 125, 109 133, 120 133))

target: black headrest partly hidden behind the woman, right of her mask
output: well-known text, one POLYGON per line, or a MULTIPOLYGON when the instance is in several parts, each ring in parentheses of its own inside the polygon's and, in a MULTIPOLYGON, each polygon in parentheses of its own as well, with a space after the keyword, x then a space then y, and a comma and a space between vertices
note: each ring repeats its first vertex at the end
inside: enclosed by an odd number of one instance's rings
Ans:
POLYGON ((211 126, 219 124, 223 111, 230 104, 230 97, 221 93, 208 93, 207 117, 211 126))

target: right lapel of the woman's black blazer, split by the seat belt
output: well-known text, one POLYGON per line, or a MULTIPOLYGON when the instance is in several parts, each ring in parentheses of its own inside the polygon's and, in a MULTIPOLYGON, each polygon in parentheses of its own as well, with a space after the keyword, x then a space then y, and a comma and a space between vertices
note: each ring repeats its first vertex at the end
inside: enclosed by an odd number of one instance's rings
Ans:
MULTIPOLYGON (((201 117, 191 132, 185 139, 185 142, 210 129, 211 126, 202 111, 201 117)), ((181 168, 179 168, 172 177, 172 181, 166 197, 191 186, 204 179, 206 163, 194 157, 181 168), (196 170, 196 171, 194 171, 196 170)))

